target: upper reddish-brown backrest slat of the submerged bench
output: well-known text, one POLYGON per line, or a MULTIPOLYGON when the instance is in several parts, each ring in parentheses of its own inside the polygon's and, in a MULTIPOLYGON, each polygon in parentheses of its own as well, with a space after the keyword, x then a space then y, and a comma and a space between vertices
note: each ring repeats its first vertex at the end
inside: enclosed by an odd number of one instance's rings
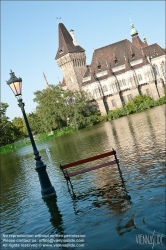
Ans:
POLYGON ((74 167, 74 166, 77 166, 77 165, 80 165, 80 164, 83 164, 83 163, 86 163, 86 162, 95 161, 95 160, 100 159, 100 158, 104 158, 104 157, 107 157, 107 156, 110 156, 110 155, 114 155, 115 153, 116 153, 115 151, 110 151, 110 152, 107 152, 107 153, 104 153, 104 154, 101 154, 101 155, 96 155, 96 156, 92 156, 92 157, 89 157, 89 158, 86 158, 86 159, 83 159, 83 160, 80 160, 80 161, 75 161, 75 162, 65 164, 65 165, 61 166, 61 168, 65 169, 65 168, 74 167))

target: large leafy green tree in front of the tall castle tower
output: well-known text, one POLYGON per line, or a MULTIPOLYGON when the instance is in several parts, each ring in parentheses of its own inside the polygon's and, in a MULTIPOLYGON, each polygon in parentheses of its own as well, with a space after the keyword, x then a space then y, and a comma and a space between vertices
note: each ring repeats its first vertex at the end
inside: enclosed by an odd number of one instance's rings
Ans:
POLYGON ((82 91, 63 90, 60 85, 49 85, 43 91, 36 91, 38 131, 48 132, 66 126, 80 128, 91 123, 93 115, 99 115, 96 107, 82 91))

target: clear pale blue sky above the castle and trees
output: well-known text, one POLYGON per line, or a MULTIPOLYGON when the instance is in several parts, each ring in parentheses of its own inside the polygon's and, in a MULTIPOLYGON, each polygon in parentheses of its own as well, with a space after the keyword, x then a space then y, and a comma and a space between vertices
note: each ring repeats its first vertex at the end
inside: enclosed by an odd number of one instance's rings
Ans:
POLYGON ((58 22, 74 30, 85 49, 86 64, 94 49, 130 36, 130 17, 139 37, 148 44, 165 44, 165 1, 3 1, 1 0, 1 102, 9 105, 6 115, 22 117, 17 99, 6 81, 10 69, 22 78, 26 113, 35 111, 34 92, 58 84, 63 75, 55 61, 58 22), (61 19, 57 19, 61 18, 61 19))

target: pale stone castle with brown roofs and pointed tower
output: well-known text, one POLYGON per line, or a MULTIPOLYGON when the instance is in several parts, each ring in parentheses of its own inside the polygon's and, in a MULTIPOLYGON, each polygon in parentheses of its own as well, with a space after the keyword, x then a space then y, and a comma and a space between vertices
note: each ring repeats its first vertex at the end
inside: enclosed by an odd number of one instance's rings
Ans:
POLYGON ((85 50, 78 45, 74 31, 59 23, 59 48, 55 57, 62 70, 63 88, 83 90, 95 101, 101 114, 122 107, 137 95, 155 100, 164 96, 166 86, 165 52, 157 44, 141 41, 130 21, 132 41, 122 41, 94 50, 86 65, 85 50))

